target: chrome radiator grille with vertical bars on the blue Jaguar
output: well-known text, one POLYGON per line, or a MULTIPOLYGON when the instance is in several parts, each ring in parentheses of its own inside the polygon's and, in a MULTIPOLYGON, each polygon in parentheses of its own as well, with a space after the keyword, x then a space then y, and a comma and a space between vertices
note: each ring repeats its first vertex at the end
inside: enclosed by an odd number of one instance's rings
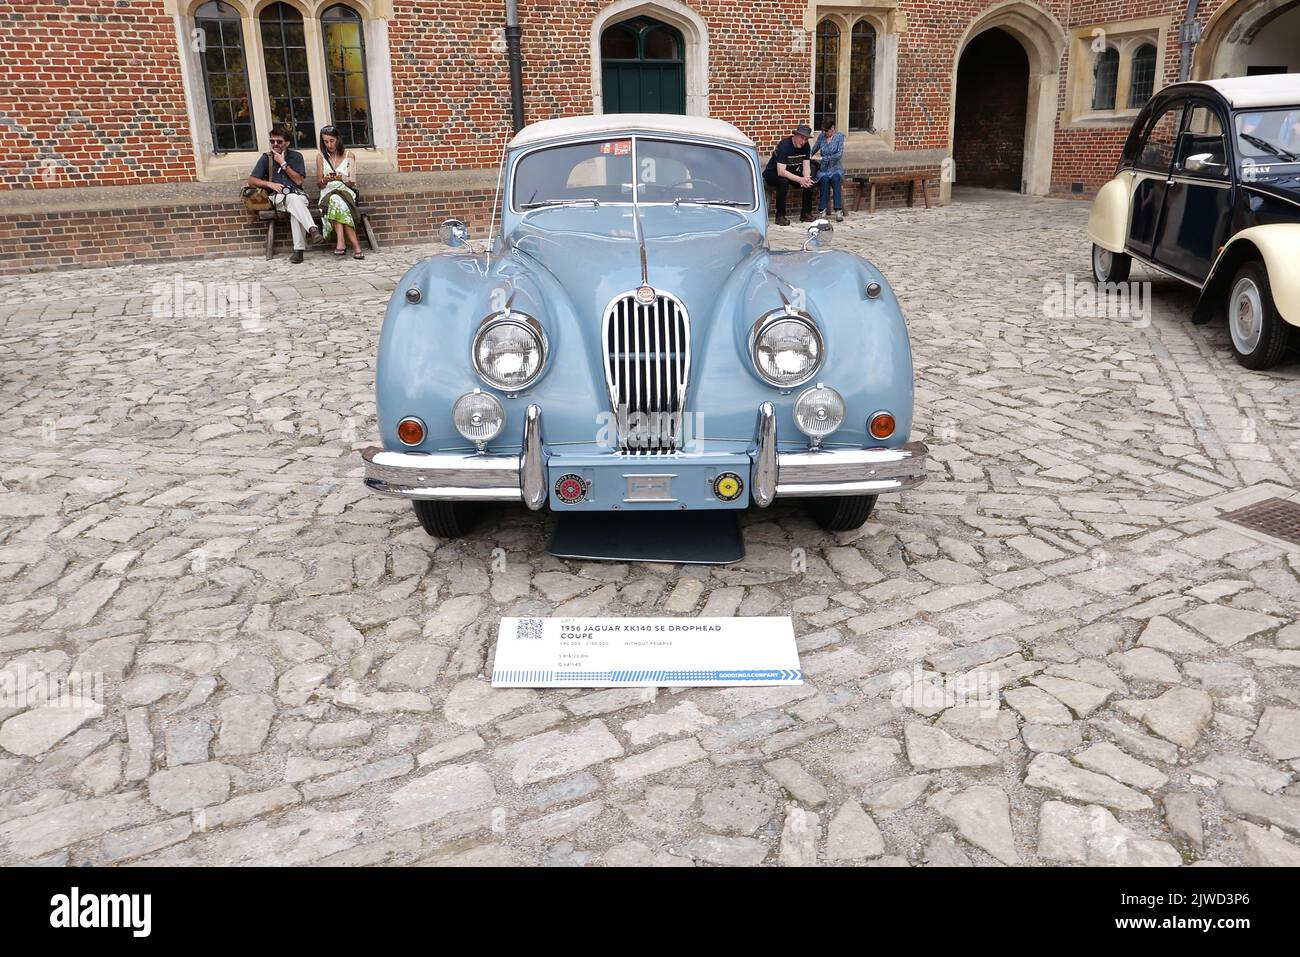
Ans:
POLYGON ((636 293, 604 311, 604 381, 623 451, 667 452, 681 447, 690 377, 690 317, 672 295, 653 302, 636 293))

